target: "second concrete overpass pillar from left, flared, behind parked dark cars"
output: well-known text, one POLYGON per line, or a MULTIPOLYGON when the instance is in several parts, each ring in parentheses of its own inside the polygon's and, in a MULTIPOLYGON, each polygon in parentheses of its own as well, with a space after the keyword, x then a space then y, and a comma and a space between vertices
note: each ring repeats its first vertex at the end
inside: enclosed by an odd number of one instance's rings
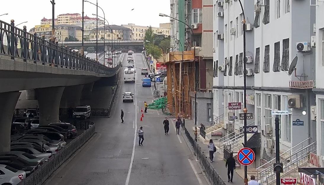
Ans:
POLYGON ((40 109, 40 125, 59 121, 59 107, 64 87, 35 89, 40 109))

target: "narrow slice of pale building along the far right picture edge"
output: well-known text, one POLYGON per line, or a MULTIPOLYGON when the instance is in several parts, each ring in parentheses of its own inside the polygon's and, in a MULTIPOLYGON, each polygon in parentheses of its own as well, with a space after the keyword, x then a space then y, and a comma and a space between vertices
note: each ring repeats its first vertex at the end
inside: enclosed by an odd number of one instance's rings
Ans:
POLYGON ((316 136, 320 167, 324 167, 324 3, 316 2, 316 136), (316 114, 317 113, 317 114, 316 114))

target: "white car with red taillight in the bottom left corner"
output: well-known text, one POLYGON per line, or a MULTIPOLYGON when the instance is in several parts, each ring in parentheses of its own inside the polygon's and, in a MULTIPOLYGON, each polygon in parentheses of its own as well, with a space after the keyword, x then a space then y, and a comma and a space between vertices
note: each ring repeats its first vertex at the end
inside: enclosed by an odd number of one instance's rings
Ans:
POLYGON ((17 185, 26 178, 26 172, 0 164, 0 184, 17 185))

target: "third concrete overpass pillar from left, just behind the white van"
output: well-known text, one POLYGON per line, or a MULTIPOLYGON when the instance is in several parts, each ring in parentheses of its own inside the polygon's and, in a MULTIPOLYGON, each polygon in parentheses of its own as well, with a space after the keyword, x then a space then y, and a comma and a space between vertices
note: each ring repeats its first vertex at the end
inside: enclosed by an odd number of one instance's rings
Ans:
POLYGON ((75 108, 79 105, 83 86, 83 84, 66 86, 62 94, 60 108, 75 108))

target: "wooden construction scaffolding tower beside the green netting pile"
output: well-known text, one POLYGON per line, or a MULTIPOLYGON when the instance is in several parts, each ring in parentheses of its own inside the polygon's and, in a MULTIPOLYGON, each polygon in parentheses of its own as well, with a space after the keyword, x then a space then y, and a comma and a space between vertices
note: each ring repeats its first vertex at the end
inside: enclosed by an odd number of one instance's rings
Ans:
POLYGON ((166 56, 168 108, 172 115, 191 118, 191 97, 195 87, 194 51, 170 52, 166 56))

